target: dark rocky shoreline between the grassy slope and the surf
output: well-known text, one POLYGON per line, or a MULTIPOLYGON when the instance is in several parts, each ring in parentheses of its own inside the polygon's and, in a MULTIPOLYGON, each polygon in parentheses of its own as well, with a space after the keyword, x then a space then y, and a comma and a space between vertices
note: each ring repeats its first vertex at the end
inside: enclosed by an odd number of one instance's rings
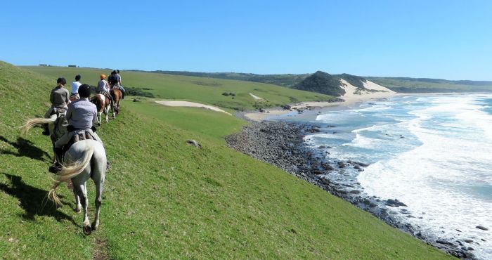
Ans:
POLYGON ((349 176, 350 171, 363 171, 368 164, 363 162, 325 160, 324 147, 313 149, 304 143, 304 136, 320 133, 330 126, 312 126, 288 122, 251 122, 238 134, 226 136, 231 148, 258 160, 273 164, 288 173, 313 183, 332 195, 341 197, 351 204, 370 212, 390 226, 399 228, 410 235, 424 240, 429 245, 448 252, 460 259, 475 259, 472 247, 466 240, 448 240, 423 235, 418 226, 405 223, 395 217, 396 211, 408 218, 413 217, 405 209, 406 204, 397 199, 381 200, 363 193, 356 180, 337 181, 337 175, 349 176))

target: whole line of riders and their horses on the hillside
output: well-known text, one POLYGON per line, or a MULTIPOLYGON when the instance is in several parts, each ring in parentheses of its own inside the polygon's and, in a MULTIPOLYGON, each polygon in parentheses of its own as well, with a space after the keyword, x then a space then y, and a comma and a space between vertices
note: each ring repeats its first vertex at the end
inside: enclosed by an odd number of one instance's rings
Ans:
POLYGON ((108 122, 108 112, 112 108, 112 115, 116 117, 119 111, 119 100, 124 97, 119 70, 111 72, 105 80, 101 74, 98 82, 98 94, 91 98, 91 86, 81 84, 81 76, 75 76, 72 82, 72 93, 65 89, 67 81, 60 77, 56 87, 51 91, 51 107, 46 111, 44 118, 28 119, 22 131, 27 134, 32 126, 43 125, 44 133, 51 137, 54 164, 50 171, 57 175, 48 197, 61 205, 56 188, 65 181, 72 181, 75 194, 76 211, 84 209, 84 234, 89 235, 99 225, 103 183, 105 172, 109 169, 103 141, 96 134, 93 123, 101 124, 101 114, 105 113, 108 122), (89 99, 90 98, 90 99, 89 99), (87 217, 87 189, 86 181, 92 178, 96 184, 96 218, 89 223, 87 217))

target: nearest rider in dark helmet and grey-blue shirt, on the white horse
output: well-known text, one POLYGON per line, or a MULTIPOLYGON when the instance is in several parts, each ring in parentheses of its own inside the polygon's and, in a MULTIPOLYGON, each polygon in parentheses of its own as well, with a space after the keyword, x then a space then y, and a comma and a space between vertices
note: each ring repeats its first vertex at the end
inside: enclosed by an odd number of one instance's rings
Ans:
POLYGON ((65 115, 65 119, 67 119, 68 122, 67 132, 56 141, 55 148, 53 149, 58 162, 62 162, 60 159, 63 157, 63 146, 66 145, 75 134, 87 132, 94 140, 104 145, 101 138, 99 138, 98 134, 95 132, 96 128, 92 125, 93 122, 96 122, 97 120, 98 112, 96 105, 89 101, 91 87, 88 84, 79 86, 79 96, 79 100, 75 100, 68 105, 67 115, 65 115))

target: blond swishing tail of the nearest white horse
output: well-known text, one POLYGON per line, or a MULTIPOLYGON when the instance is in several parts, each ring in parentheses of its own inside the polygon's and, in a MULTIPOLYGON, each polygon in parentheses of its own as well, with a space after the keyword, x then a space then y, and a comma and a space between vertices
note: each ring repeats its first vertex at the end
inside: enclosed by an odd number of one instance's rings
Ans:
POLYGON ((51 190, 48 192, 48 199, 55 202, 57 206, 61 206, 60 199, 56 195, 56 188, 60 186, 61 183, 74 178, 86 169, 87 165, 91 162, 92 155, 94 153, 94 148, 88 147, 84 150, 83 157, 68 165, 63 165, 62 169, 58 171, 58 177, 53 183, 51 190))

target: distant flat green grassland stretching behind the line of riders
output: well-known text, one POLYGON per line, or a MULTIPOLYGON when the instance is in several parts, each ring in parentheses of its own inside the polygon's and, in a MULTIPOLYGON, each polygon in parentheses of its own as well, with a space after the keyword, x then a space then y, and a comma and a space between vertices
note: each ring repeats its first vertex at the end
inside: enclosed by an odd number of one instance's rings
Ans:
MULTIPOLYGON (((82 75, 82 82, 96 85, 99 75, 109 74, 110 70, 77 67, 27 67, 29 70, 46 74, 53 80, 65 77, 72 82, 75 74, 82 75)), ((288 89, 272 84, 242 82, 230 79, 211 79, 150 72, 122 72, 124 86, 150 89, 156 98, 188 100, 208 105, 216 105, 231 110, 252 110, 294 103, 299 100, 330 100, 332 96, 309 91, 288 89), (233 92, 235 96, 224 96, 233 92), (250 93, 264 98, 256 102, 250 93)))

